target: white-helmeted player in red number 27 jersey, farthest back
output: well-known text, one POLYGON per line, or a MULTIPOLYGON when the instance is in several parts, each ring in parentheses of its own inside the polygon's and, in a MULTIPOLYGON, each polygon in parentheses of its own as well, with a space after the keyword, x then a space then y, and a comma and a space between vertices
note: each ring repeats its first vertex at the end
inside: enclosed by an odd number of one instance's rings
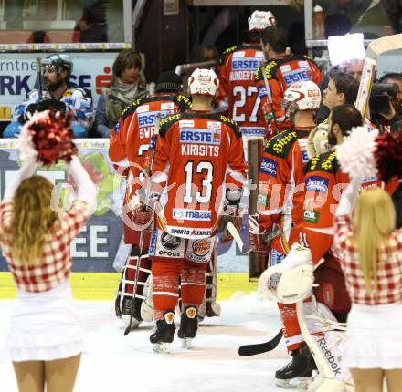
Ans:
POLYGON ((219 107, 238 123, 243 138, 265 136, 254 74, 264 58, 259 33, 275 25, 270 11, 254 11, 249 17, 249 43, 227 48, 219 59, 219 107))

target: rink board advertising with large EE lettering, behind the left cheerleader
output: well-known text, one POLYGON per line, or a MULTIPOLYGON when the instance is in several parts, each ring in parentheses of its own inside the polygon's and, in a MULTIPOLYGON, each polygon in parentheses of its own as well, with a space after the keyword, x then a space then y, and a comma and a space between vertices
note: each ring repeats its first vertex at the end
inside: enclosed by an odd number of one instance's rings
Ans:
MULTIPOLYGON (((122 242, 122 198, 125 183, 114 174, 109 159, 108 139, 79 139, 79 158, 92 178, 99 179, 98 200, 95 213, 79 236, 71 243, 73 271, 75 272, 113 272, 116 258, 126 258, 127 253, 119 251, 122 242)), ((0 194, 3 197, 5 186, 13 178, 13 173, 20 166, 19 150, 16 139, 0 139, 0 194)), ((43 175, 58 187, 63 200, 69 200, 69 178, 64 161, 50 170, 38 168, 38 175, 43 175)), ((247 217, 243 223, 247 222, 247 217)), ((243 242, 248 242, 246 224, 241 230, 243 242)), ((234 242, 218 245, 218 271, 222 273, 247 273, 249 258, 239 254, 234 242)), ((121 261, 119 262, 121 263, 121 261)), ((5 257, 0 250, 0 271, 7 271, 5 257)))

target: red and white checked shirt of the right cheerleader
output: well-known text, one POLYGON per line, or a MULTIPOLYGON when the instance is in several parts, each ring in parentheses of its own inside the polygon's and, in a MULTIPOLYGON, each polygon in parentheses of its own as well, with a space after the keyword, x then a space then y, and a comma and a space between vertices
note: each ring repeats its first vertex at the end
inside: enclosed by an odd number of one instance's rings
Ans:
POLYGON ((402 302, 402 230, 392 232, 377 251, 377 290, 366 290, 359 252, 353 241, 350 216, 335 216, 333 245, 344 271, 346 289, 353 304, 395 304, 402 302))

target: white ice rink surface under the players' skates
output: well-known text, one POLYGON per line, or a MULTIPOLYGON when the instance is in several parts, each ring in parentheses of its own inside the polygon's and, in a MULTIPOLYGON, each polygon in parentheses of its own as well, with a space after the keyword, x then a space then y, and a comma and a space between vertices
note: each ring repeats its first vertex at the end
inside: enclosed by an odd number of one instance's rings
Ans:
MULTIPOLYGON (((171 354, 153 353, 153 325, 141 325, 123 336, 111 301, 75 301, 87 332, 75 392, 269 392, 285 391, 274 384, 275 370, 289 362, 283 340, 276 350, 240 357, 238 346, 262 343, 276 335, 280 317, 274 302, 256 294, 235 294, 220 302, 222 315, 207 318, 190 350, 175 335, 171 354)), ((3 348, 12 300, 0 301, 0 389, 15 392, 16 380, 3 348)), ((178 321, 178 318, 177 318, 178 321)), ((294 390, 294 389, 289 389, 294 390)))

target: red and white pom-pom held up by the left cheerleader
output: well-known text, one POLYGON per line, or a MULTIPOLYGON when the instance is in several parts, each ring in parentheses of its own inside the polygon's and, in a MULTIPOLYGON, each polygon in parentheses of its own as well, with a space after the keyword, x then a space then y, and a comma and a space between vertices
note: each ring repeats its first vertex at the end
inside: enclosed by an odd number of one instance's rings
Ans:
POLYGON ((71 129, 71 114, 49 110, 47 116, 32 121, 28 130, 32 143, 37 150, 37 160, 45 166, 55 164, 58 160, 69 162, 77 153, 75 139, 71 129))

